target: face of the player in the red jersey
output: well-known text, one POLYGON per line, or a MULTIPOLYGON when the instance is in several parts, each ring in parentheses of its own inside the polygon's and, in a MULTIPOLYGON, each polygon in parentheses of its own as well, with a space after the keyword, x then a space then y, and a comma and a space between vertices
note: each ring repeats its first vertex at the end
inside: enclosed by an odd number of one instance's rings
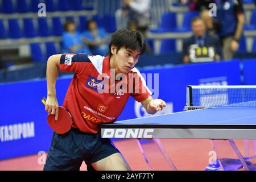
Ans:
POLYGON ((129 73, 131 69, 137 64, 141 51, 131 50, 129 48, 121 48, 116 52, 115 63, 117 71, 120 73, 129 73))

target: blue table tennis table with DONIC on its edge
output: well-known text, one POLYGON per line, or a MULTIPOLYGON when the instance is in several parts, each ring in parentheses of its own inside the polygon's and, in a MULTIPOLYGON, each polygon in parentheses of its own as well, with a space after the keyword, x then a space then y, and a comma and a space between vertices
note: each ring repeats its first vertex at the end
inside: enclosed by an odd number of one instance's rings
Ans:
MULTIPOLYGON (((187 97, 187 100, 190 98, 187 97)), ((193 109, 192 102, 187 102, 193 109)), ((102 124, 100 133, 102 138, 154 139, 173 169, 176 167, 164 151, 159 139, 225 139, 229 140, 243 167, 249 170, 233 139, 256 139, 256 107, 197 108, 178 113, 128 119, 102 124)), ((142 150, 139 140, 138 144, 142 150)), ((145 160, 147 162, 146 158, 145 160)))

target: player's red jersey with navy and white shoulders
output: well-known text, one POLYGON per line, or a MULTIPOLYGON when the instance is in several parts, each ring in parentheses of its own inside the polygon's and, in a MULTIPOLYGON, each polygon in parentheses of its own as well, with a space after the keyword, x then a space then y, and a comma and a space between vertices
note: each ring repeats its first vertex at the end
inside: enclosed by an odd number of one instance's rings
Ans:
POLYGON ((100 123, 114 122, 130 95, 141 102, 152 94, 135 67, 122 80, 110 74, 109 56, 63 54, 60 71, 75 73, 63 106, 72 115, 73 127, 86 133, 98 133, 100 123))

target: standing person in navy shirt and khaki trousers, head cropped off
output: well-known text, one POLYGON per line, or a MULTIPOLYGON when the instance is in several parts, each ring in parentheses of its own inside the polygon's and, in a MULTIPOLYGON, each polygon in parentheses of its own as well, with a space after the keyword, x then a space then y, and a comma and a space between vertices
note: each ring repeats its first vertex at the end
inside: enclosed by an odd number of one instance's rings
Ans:
POLYGON ((220 38, 224 59, 230 60, 239 47, 240 38, 245 23, 241 0, 218 0, 217 19, 221 24, 220 38))

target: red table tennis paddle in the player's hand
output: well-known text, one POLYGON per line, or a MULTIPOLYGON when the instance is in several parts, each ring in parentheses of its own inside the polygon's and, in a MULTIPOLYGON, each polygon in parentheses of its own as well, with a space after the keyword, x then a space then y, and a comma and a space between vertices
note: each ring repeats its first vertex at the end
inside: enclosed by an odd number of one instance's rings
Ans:
MULTIPOLYGON (((41 102, 46 105, 46 98, 42 98, 41 102)), ((51 129, 59 134, 67 133, 73 123, 71 114, 62 106, 59 106, 59 117, 57 121, 55 120, 55 114, 48 114, 47 122, 51 129)))

